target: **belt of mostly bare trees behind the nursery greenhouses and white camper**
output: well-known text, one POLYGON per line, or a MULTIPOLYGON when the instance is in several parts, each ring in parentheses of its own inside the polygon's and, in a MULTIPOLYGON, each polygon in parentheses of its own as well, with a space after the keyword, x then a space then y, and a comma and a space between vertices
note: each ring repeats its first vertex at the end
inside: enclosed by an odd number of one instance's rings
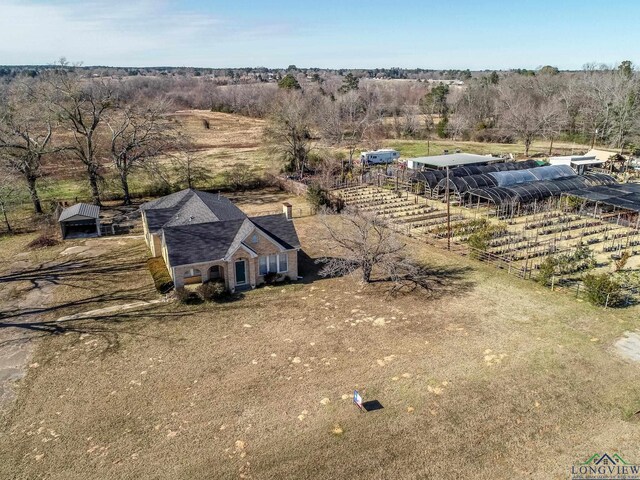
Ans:
POLYGON ((303 175, 319 142, 348 151, 383 139, 429 138, 524 144, 558 139, 636 152, 640 147, 640 76, 631 62, 561 73, 553 67, 488 73, 464 86, 419 82, 304 82, 289 73, 270 104, 267 139, 285 170, 303 175))

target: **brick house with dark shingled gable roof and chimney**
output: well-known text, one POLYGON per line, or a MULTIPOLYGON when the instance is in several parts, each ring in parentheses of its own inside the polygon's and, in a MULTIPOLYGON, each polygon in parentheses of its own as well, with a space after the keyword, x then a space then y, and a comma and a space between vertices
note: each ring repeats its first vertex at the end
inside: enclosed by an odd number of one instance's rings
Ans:
POLYGON ((289 204, 282 214, 248 217, 224 196, 186 189, 140 210, 151 254, 162 256, 176 287, 221 279, 235 291, 269 276, 298 278, 289 204))

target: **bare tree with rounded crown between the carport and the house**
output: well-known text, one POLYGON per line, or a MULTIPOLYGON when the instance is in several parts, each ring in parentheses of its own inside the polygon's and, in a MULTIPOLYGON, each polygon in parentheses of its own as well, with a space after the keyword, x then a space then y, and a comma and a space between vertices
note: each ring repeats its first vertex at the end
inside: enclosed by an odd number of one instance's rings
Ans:
POLYGON ((166 107, 163 101, 126 105, 107 119, 111 160, 118 171, 125 205, 131 204, 129 174, 172 145, 174 130, 164 115, 166 107))

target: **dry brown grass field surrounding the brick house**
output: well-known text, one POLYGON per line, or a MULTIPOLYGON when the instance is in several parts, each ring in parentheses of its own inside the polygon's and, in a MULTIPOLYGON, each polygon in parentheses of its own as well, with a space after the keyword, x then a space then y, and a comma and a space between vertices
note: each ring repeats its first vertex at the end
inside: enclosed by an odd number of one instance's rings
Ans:
MULTIPOLYGON (((295 222, 308 257, 335 254, 315 217, 295 222)), ((235 302, 36 332, 2 420, 0 477, 559 479, 595 452, 640 462, 638 365, 611 349, 640 327, 637 307, 597 309, 407 241, 441 279, 429 294, 319 279, 305 257, 301 283, 235 302), (356 388, 384 408, 359 413, 356 388)), ((0 252, 20 251, 11 242, 0 252)), ((73 295, 60 281, 51 302, 129 284, 151 298, 131 242, 91 260, 104 281, 79 274, 73 295), (109 281, 109 265, 130 267, 109 281)))

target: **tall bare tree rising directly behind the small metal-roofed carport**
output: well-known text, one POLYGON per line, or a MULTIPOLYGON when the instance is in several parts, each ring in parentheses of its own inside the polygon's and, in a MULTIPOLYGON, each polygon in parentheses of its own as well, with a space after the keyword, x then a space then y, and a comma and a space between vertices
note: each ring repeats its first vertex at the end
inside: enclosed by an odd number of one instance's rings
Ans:
POLYGON ((48 104, 63 128, 71 134, 67 146, 87 171, 93 203, 100 205, 98 182, 102 178, 98 127, 116 105, 110 80, 81 79, 76 72, 58 69, 48 76, 48 104))

